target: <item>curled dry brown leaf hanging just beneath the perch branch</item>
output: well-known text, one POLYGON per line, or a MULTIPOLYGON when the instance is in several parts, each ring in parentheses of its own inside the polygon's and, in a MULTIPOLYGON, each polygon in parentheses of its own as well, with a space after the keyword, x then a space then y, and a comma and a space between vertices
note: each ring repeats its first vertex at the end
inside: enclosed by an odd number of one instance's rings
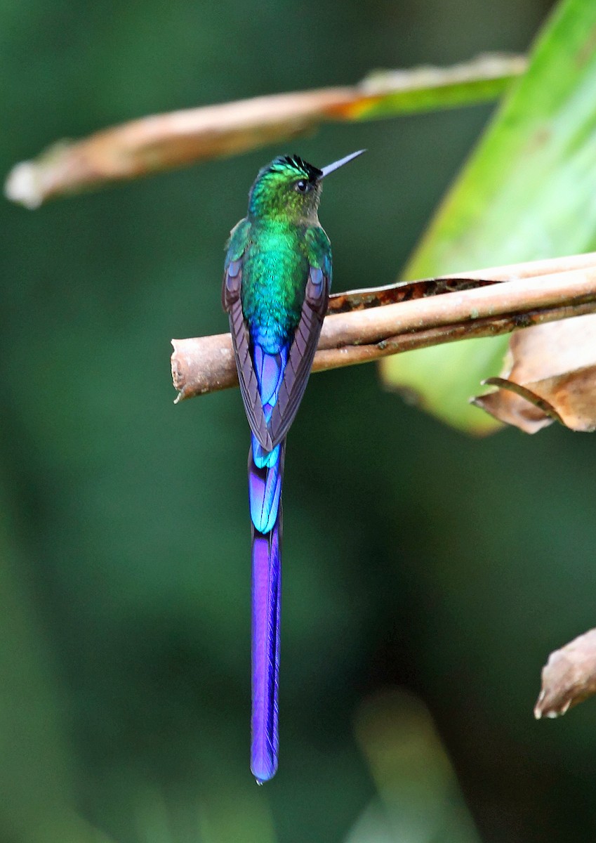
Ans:
POLYGON ((474 404, 526 433, 560 421, 596 429, 596 315, 536 325, 514 333, 495 392, 474 404))

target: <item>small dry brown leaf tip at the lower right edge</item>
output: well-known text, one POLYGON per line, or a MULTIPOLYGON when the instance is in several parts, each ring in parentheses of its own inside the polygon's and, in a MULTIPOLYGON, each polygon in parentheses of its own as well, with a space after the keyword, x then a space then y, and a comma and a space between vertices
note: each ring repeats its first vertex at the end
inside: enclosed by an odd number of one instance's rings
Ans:
POLYGON ((559 717, 596 693, 596 629, 551 652, 542 668, 540 696, 534 708, 540 717, 559 717))

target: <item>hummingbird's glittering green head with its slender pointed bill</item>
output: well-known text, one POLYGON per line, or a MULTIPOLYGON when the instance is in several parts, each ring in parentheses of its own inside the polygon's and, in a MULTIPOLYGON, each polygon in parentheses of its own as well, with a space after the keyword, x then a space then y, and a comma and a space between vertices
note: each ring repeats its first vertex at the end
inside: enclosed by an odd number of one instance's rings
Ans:
POLYGON ((361 149, 318 169, 297 155, 280 155, 260 169, 248 194, 248 216, 317 223, 322 180, 363 153, 361 149))

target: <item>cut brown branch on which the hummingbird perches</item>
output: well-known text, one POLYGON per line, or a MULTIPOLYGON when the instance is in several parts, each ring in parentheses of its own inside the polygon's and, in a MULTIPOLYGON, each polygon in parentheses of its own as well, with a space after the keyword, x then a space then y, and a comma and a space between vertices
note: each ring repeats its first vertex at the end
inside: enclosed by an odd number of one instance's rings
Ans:
MULTIPOLYGON (((340 293, 332 298, 329 311, 313 372, 594 313, 596 253, 340 293), (482 286, 449 292, 455 282, 482 286), (424 289, 426 294, 421 293, 424 289), (414 293, 409 295, 408 290, 414 293), (402 300, 391 298, 390 291, 402 300), (387 296, 391 303, 375 306, 387 296), (333 312, 335 302, 339 312, 333 312)), ((229 334, 173 340, 172 344, 177 400, 237 385, 229 334)))

